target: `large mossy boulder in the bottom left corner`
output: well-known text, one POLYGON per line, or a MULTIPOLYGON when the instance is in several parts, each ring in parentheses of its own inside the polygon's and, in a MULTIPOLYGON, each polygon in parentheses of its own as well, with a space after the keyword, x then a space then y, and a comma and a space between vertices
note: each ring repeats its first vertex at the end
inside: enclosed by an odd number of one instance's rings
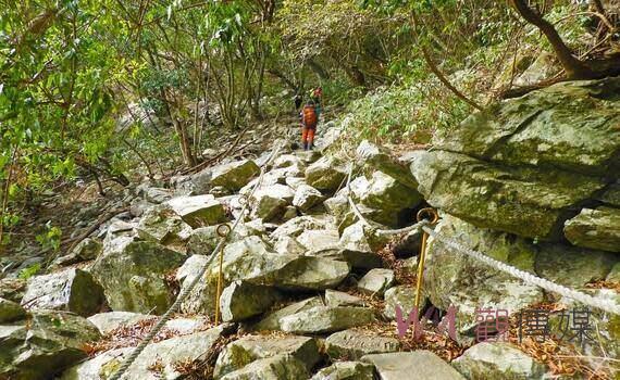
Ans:
POLYGON ((85 359, 85 343, 99 338, 92 324, 72 313, 33 312, 28 319, 0 326, 0 378, 53 378, 85 359))

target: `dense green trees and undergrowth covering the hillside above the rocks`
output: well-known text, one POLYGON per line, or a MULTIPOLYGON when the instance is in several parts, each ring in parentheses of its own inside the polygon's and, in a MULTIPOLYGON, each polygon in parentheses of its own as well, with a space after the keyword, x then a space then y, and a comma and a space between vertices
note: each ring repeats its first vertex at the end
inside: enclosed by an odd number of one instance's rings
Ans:
POLYGON ((609 64, 619 36, 618 14, 605 7, 3 1, 0 246, 49 191, 82 178, 103 192, 103 180, 126 186, 195 167, 214 136, 293 114, 293 94, 313 86, 323 87, 328 117, 361 131, 351 138, 425 143, 526 91, 532 84, 516 90, 514 78, 542 51, 555 54, 557 72, 533 87, 607 75, 619 67, 609 64))

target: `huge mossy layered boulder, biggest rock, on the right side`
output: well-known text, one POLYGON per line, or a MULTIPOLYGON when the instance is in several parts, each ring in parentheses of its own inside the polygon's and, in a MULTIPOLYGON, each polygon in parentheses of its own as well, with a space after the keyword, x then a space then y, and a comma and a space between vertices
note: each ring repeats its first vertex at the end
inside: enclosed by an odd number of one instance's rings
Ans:
POLYGON ((416 152, 430 204, 478 227, 560 240, 618 180, 620 78, 561 83, 500 102, 416 152))

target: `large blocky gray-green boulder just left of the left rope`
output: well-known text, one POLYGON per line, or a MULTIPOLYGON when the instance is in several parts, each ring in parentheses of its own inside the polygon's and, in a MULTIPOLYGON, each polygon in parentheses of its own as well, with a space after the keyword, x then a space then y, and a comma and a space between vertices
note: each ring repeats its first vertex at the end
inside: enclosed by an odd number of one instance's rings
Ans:
POLYGON ((174 301, 166 276, 186 256, 148 241, 127 241, 103 252, 91 274, 113 311, 162 314, 174 301))

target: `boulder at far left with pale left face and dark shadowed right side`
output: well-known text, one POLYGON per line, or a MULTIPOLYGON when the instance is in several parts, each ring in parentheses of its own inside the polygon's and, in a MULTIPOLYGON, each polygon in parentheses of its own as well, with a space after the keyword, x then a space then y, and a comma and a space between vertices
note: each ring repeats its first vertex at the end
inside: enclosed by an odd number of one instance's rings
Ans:
POLYGON ((82 269, 71 268, 28 280, 22 305, 30 309, 57 309, 90 316, 104 301, 101 286, 82 269))

